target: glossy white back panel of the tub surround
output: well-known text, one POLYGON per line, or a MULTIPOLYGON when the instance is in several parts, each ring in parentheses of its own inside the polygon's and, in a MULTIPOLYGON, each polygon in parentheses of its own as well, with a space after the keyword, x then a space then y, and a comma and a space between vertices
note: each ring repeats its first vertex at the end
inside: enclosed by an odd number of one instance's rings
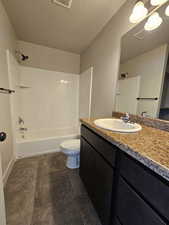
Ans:
POLYGON ((29 87, 20 90, 20 116, 29 132, 78 125, 78 75, 21 66, 20 85, 29 87))

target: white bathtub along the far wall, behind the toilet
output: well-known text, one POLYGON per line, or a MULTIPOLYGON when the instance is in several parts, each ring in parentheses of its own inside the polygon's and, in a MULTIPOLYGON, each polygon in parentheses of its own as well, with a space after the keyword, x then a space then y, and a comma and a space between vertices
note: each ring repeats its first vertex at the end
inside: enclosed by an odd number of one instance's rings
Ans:
POLYGON ((16 141, 17 158, 30 157, 60 151, 60 143, 79 138, 79 128, 67 128, 45 131, 26 131, 16 141))

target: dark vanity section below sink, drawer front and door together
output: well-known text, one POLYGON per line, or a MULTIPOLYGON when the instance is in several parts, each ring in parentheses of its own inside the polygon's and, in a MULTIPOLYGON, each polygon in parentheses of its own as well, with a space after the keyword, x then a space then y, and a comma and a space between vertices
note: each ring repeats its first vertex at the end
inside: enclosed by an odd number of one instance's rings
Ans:
POLYGON ((102 224, 109 225, 112 217, 115 151, 104 139, 82 127, 80 157, 80 177, 102 224))

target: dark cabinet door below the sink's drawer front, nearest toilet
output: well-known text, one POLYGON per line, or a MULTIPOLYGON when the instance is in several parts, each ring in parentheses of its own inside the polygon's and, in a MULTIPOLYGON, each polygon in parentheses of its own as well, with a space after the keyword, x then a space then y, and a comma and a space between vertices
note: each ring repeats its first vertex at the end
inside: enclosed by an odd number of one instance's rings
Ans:
POLYGON ((80 176, 103 225, 110 224, 113 169, 83 138, 80 176))

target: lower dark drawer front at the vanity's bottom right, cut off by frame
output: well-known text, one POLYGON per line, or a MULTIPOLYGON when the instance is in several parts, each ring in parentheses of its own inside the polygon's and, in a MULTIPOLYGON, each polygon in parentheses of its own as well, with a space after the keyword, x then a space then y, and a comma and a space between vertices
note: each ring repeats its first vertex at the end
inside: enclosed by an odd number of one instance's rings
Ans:
POLYGON ((166 225, 122 178, 118 185, 117 216, 123 225, 166 225))

